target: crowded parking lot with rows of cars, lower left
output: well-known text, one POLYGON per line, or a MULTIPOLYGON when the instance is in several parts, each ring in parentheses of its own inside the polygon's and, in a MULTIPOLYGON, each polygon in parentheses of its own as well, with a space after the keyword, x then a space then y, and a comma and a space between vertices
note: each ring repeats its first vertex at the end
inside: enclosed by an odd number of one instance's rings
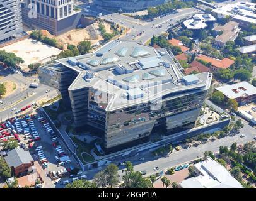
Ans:
POLYGON ((16 139, 20 148, 30 151, 33 159, 42 166, 42 187, 64 188, 66 183, 86 178, 47 120, 38 114, 2 123, 0 136, 1 146, 9 139, 16 139))

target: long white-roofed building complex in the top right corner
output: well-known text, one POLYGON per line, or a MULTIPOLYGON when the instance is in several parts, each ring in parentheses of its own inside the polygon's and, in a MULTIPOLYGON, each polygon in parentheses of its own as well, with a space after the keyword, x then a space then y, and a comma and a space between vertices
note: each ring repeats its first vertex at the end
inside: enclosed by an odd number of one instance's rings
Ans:
POLYGON ((248 23, 256 23, 256 4, 251 2, 237 2, 235 4, 222 5, 219 8, 212 9, 212 13, 218 14, 218 18, 226 18, 231 16, 233 19, 245 21, 248 23))

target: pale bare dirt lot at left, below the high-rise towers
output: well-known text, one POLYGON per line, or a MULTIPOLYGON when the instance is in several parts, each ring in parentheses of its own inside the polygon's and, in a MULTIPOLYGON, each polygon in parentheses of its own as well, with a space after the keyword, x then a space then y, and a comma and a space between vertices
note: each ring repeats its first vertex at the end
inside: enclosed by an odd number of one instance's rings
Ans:
POLYGON ((58 55, 61 50, 54 48, 53 46, 45 45, 39 41, 27 38, 17 43, 0 48, 0 50, 6 50, 6 52, 13 52, 18 57, 23 58, 24 62, 21 64, 23 70, 28 70, 28 65, 31 63, 43 63, 50 60, 54 55, 58 55))

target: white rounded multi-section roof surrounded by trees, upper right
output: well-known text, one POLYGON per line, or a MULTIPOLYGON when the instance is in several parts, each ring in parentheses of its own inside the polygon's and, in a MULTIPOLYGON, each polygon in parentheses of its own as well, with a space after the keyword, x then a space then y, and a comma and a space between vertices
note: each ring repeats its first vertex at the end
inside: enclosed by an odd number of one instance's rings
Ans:
POLYGON ((188 29, 198 30, 206 28, 207 21, 216 21, 216 19, 211 14, 195 14, 192 19, 184 21, 183 24, 188 29))

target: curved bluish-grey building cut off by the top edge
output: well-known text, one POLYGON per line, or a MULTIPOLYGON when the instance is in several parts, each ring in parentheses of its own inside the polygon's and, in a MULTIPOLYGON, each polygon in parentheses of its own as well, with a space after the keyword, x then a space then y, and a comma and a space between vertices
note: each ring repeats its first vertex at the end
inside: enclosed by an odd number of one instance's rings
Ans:
POLYGON ((141 11, 166 2, 167 0, 95 0, 95 4, 102 8, 122 11, 141 11))

